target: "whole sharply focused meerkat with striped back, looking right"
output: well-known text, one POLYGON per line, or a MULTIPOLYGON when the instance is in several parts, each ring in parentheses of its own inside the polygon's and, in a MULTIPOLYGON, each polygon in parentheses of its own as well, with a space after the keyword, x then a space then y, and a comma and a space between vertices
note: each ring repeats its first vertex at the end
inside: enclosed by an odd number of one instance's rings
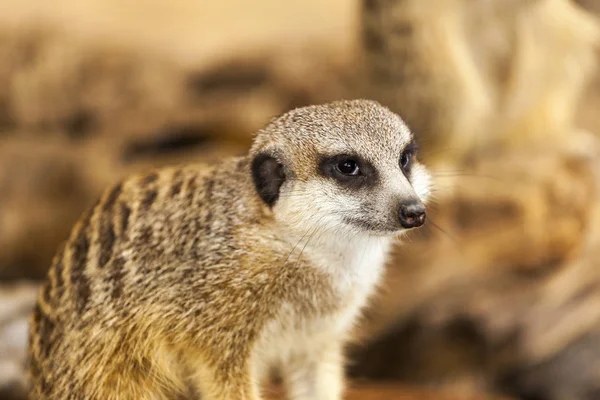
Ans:
POLYGON ((370 100, 292 110, 246 156, 108 189, 31 317, 36 399, 339 400, 343 347, 430 191, 413 135, 370 100))

